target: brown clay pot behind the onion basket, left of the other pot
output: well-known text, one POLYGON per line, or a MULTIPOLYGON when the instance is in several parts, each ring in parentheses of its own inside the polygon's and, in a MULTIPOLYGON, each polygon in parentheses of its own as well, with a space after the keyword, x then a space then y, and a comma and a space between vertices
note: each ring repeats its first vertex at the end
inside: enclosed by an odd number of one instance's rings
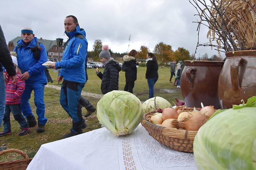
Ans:
POLYGON ((218 79, 224 61, 185 61, 180 78, 181 93, 186 107, 212 105, 219 109, 218 79))

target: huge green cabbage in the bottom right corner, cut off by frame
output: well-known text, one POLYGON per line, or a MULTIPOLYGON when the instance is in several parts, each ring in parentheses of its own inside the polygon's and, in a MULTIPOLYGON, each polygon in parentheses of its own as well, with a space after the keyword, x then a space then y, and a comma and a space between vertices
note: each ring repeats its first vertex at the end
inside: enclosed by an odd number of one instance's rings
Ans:
POLYGON ((256 169, 256 96, 217 110, 196 134, 197 169, 256 169))

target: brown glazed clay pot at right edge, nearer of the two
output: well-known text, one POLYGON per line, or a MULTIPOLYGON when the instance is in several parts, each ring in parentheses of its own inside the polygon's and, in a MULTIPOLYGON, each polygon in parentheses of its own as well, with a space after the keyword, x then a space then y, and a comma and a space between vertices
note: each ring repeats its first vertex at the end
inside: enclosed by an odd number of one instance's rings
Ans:
POLYGON ((234 51, 226 54, 221 70, 218 94, 220 108, 232 108, 243 99, 256 96, 256 50, 234 51))

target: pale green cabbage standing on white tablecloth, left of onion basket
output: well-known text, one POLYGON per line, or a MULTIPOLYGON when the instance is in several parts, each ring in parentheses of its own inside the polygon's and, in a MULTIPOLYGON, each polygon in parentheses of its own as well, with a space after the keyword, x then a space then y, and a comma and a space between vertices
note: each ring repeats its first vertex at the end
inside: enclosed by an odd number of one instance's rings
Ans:
POLYGON ((132 133, 140 124, 141 102, 127 91, 114 90, 97 103, 97 118, 115 136, 132 133))

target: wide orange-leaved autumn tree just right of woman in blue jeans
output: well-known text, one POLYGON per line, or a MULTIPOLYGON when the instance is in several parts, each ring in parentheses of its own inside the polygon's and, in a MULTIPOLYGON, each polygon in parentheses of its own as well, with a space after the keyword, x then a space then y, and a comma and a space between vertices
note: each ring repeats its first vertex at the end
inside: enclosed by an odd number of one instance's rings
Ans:
POLYGON ((157 60, 160 61, 160 65, 174 60, 172 46, 163 42, 156 44, 153 52, 156 54, 157 60))

